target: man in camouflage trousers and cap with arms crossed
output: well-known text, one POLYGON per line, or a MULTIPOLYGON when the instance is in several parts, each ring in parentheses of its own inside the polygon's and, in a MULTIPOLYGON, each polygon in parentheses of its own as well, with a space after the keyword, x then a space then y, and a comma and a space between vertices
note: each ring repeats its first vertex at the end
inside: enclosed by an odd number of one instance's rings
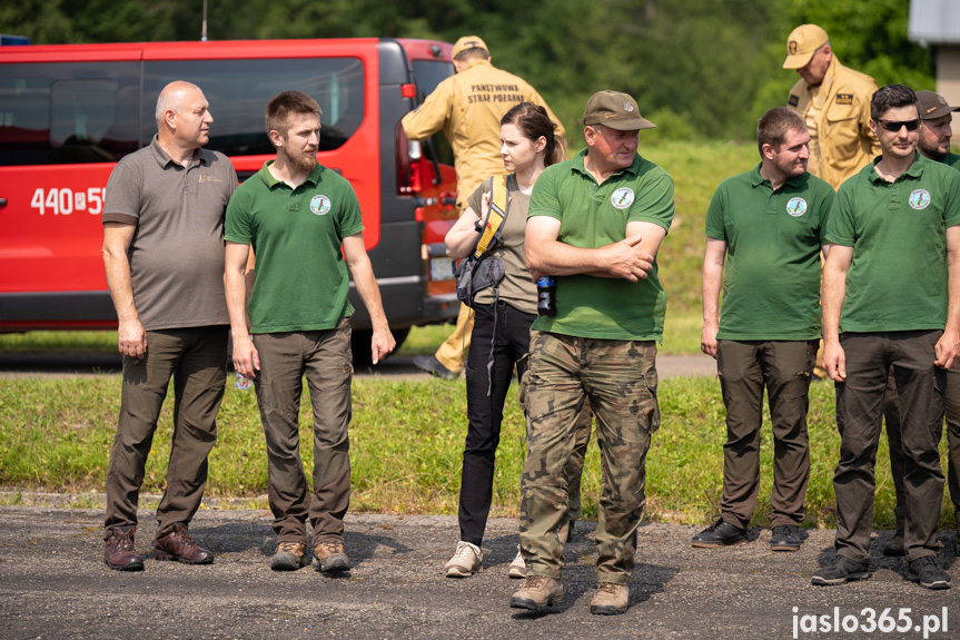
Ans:
POLYGON ((527 216, 527 266, 534 279, 555 277, 556 315, 534 322, 521 388, 527 411, 521 479, 527 578, 511 607, 537 610, 563 600, 564 467, 588 401, 603 473, 591 613, 608 616, 627 608, 646 452, 660 425, 655 342, 663 336, 666 294, 656 253, 673 220, 673 180, 637 155, 640 130, 654 125, 631 96, 595 93, 581 122, 586 150, 541 174, 527 216))

